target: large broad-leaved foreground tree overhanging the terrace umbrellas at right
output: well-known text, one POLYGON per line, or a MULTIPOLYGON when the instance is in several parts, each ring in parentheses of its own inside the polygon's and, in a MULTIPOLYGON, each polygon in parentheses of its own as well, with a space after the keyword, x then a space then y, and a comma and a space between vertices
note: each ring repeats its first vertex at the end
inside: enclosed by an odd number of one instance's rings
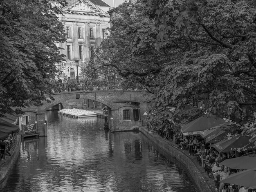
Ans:
MULTIPOLYGON (((256 7, 250 0, 148 0, 171 60, 159 76, 153 108, 184 107, 193 96, 208 112, 241 121, 256 105, 256 7)), ((245 128, 245 127, 243 127, 245 128)), ((251 132, 252 133, 252 132, 251 132)), ((256 133, 254 132, 254 139, 256 133)))

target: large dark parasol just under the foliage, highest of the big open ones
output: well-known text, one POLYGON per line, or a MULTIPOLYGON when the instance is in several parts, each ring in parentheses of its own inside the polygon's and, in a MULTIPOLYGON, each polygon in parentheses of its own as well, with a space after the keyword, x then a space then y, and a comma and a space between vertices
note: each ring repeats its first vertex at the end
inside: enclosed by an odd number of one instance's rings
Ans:
POLYGON ((222 118, 218 118, 215 115, 201 116, 190 123, 182 126, 182 132, 184 135, 199 134, 200 131, 204 131, 209 128, 217 128, 224 124, 225 121, 222 118))

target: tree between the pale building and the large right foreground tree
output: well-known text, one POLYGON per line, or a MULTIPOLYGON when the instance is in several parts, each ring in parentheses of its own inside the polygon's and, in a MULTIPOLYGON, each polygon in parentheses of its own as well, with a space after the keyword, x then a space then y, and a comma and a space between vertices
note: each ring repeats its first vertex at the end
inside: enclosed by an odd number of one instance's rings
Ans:
POLYGON ((111 21, 110 35, 95 50, 85 71, 87 76, 121 76, 122 82, 118 83, 122 88, 143 87, 155 93, 154 84, 168 58, 164 56, 166 51, 153 44, 159 31, 152 25, 153 20, 142 15, 142 9, 139 3, 116 9, 121 18, 111 21))

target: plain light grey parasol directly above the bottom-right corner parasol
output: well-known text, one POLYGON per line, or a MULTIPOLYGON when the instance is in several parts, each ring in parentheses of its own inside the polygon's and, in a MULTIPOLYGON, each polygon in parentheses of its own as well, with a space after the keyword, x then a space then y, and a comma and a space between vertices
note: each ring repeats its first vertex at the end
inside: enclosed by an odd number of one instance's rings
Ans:
POLYGON ((249 170, 256 167, 256 157, 241 156, 232 159, 226 159, 220 162, 220 165, 230 167, 231 169, 249 170))

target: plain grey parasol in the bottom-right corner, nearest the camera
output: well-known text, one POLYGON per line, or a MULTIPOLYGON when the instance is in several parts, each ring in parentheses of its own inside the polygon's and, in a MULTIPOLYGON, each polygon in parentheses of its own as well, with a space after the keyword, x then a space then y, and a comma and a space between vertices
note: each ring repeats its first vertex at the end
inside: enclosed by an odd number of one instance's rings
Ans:
POLYGON ((256 186, 256 168, 231 174, 220 182, 231 183, 245 187, 254 187, 256 186))

